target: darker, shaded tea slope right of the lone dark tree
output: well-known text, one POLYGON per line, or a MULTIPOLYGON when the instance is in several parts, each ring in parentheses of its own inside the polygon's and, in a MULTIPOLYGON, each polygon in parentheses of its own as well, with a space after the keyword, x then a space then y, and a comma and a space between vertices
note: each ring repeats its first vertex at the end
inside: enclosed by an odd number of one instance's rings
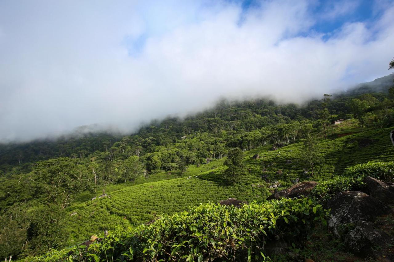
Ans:
POLYGON ((267 151, 266 148, 250 151, 246 163, 255 174, 262 174, 262 168, 265 168, 263 175, 267 177, 266 180, 279 181, 283 187, 289 186, 296 178, 300 181, 324 181, 333 175, 340 175, 346 166, 372 160, 393 161, 394 146, 389 137, 391 130, 392 128, 378 129, 333 140, 321 140, 317 148, 322 159, 315 165, 313 177, 302 160, 302 143, 275 151, 267 151), (259 159, 252 158, 256 153, 260 155, 259 159), (304 172, 305 169, 307 173, 304 172))

